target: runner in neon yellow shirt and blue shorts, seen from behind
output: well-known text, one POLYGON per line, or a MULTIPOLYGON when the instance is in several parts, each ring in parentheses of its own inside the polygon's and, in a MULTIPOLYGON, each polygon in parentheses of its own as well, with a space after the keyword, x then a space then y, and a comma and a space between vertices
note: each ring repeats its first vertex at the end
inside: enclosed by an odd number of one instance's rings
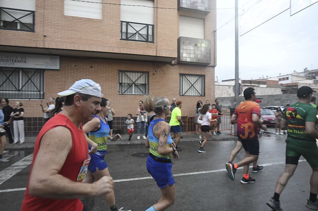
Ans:
POLYGON ((181 138, 181 127, 180 125, 184 125, 181 120, 181 108, 182 108, 182 101, 178 100, 176 101, 176 107, 171 112, 171 119, 169 122, 169 125, 171 126, 170 132, 171 132, 171 138, 176 138, 175 144, 176 144, 176 150, 181 151, 180 148, 178 148, 178 144, 180 142, 181 138))

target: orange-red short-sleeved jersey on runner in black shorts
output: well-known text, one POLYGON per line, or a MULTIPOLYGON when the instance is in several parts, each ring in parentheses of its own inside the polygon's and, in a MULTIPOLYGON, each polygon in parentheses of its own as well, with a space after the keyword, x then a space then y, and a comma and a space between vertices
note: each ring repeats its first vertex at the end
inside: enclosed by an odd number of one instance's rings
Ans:
POLYGON ((236 108, 234 114, 238 116, 237 136, 243 139, 257 139, 259 128, 254 125, 252 114, 257 114, 260 117, 259 105, 245 100, 236 108))

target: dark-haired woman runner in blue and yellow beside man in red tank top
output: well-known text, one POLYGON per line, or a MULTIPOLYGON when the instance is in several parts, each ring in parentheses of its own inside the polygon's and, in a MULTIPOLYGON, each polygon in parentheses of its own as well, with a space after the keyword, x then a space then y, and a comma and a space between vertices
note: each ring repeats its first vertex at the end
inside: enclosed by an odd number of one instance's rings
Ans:
MULTIPOLYGON (((108 166, 105 161, 105 155, 107 152, 107 139, 110 138, 109 125, 107 123, 107 116, 109 114, 109 101, 106 98, 101 98, 100 112, 98 112, 91 121, 87 122, 83 126, 85 134, 88 133, 89 139, 97 144, 97 152, 91 155, 91 160, 88 164, 88 171, 84 182, 93 183, 103 176, 110 176, 108 166)), ((121 138, 119 134, 113 137, 112 141, 116 141, 121 138)), ((89 150, 91 146, 88 145, 89 150)), ((118 211, 115 202, 114 190, 105 195, 108 206, 112 211, 118 211)))

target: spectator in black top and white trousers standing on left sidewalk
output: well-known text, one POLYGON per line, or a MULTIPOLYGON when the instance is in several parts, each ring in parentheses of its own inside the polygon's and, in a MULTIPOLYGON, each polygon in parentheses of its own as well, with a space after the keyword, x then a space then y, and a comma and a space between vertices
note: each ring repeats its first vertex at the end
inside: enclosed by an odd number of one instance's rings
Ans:
POLYGON ((17 144, 18 138, 20 137, 20 144, 24 143, 24 109, 21 108, 23 104, 21 102, 16 102, 16 106, 10 117, 13 117, 13 132, 14 132, 14 142, 12 144, 17 144))

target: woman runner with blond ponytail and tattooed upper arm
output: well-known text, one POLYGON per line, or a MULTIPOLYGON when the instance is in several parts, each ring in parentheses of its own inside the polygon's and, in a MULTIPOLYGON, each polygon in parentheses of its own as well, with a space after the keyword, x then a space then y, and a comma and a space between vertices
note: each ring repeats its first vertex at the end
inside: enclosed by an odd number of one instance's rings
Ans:
POLYGON ((175 201, 175 180, 171 173, 171 153, 174 159, 179 155, 176 145, 170 137, 170 125, 165 118, 170 114, 170 103, 165 97, 145 96, 144 109, 155 112, 156 117, 150 122, 146 147, 149 148, 147 170, 157 182, 162 196, 158 202, 146 211, 160 211, 169 208, 175 201))

